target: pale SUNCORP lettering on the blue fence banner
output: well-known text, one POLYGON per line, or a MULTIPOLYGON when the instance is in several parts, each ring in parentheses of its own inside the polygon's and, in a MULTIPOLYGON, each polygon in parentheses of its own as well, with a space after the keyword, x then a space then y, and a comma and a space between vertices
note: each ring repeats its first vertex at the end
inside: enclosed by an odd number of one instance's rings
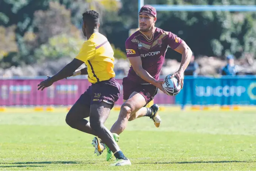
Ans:
POLYGON ((246 91, 244 86, 217 86, 217 87, 203 87, 203 86, 198 86, 196 88, 196 96, 199 97, 209 97, 209 96, 238 96, 240 97, 242 93, 246 91))

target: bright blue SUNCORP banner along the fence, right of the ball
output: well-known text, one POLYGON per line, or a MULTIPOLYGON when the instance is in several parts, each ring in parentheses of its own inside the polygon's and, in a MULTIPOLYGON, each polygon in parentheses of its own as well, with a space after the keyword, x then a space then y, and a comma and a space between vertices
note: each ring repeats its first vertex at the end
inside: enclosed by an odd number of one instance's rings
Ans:
POLYGON ((256 77, 185 77, 176 104, 256 105, 256 77))

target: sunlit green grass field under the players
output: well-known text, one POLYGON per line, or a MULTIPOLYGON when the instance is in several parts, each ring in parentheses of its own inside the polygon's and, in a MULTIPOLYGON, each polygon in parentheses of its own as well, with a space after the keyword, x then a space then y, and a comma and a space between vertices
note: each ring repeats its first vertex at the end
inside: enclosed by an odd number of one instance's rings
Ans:
POLYGON ((132 166, 111 167, 66 113, 0 113, 0 170, 256 170, 256 111, 160 115, 160 128, 149 118, 129 122, 119 145, 132 166))

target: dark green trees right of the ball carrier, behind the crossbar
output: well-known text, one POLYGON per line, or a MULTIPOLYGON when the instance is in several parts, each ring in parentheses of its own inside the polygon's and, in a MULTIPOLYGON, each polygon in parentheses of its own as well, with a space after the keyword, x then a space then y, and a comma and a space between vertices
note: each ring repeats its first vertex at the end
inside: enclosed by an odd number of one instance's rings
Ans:
MULTIPOLYGON (((197 5, 255 5, 256 2, 236 0, 186 0, 177 4, 197 5)), ((161 14, 162 12, 159 12, 161 14)), ((164 12, 158 17, 157 26, 171 31, 184 39, 196 55, 243 56, 255 52, 256 41, 252 38, 256 30, 256 15, 251 12, 164 12), (171 22, 170 22, 171 21, 171 22)), ((175 56, 175 52, 167 55, 175 56)))

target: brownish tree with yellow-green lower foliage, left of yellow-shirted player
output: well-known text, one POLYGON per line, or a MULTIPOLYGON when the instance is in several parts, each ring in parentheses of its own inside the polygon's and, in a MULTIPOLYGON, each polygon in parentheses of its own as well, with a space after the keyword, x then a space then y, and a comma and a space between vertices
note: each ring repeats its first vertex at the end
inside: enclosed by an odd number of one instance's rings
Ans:
POLYGON ((84 40, 81 31, 71 23, 71 12, 58 2, 50 2, 48 10, 36 11, 34 15, 38 32, 32 42, 40 42, 35 59, 74 58, 84 40))

